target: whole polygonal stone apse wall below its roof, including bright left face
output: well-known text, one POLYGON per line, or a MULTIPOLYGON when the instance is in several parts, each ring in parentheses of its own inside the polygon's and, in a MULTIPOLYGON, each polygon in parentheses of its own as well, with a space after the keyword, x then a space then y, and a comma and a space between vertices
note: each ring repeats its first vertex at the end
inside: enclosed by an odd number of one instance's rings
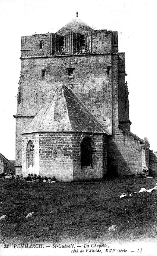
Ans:
POLYGON ((53 177, 58 181, 100 179, 107 173, 107 138, 105 134, 75 132, 40 132, 24 134, 22 172, 53 177), (92 167, 81 167, 81 142, 93 141, 92 167), (34 166, 27 168, 26 148, 29 140, 35 148, 34 166))

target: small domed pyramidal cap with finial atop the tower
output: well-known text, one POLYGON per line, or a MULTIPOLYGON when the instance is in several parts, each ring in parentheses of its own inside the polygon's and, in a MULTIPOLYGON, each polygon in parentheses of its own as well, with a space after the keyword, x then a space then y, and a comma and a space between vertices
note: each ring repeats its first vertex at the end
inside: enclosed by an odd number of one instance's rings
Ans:
POLYGON ((81 31, 89 31, 93 30, 89 27, 85 22, 78 18, 78 12, 76 12, 76 18, 72 19, 69 23, 67 23, 64 27, 57 31, 57 33, 64 33, 67 31, 73 32, 81 32, 81 31))

